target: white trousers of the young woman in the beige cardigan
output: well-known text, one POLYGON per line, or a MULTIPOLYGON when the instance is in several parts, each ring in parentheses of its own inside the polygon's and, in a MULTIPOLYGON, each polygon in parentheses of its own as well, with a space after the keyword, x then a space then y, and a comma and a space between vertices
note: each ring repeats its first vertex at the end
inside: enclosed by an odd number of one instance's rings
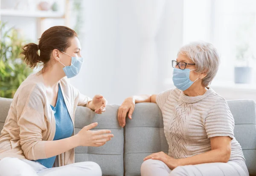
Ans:
POLYGON ((0 160, 0 176, 102 176, 95 162, 47 168, 39 162, 6 157, 0 160))

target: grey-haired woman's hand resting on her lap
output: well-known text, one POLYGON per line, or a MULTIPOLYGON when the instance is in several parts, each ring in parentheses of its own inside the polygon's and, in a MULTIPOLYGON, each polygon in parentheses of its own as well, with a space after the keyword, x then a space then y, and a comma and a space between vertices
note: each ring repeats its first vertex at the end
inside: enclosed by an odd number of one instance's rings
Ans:
POLYGON ((177 166, 179 166, 178 164, 178 159, 174 159, 171 156, 168 156, 166 153, 164 152, 158 152, 158 153, 153 153, 147 157, 144 158, 144 161, 147 159, 156 159, 156 160, 160 160, 162 162, 164 162, 170 169, 174 169, 177 166))

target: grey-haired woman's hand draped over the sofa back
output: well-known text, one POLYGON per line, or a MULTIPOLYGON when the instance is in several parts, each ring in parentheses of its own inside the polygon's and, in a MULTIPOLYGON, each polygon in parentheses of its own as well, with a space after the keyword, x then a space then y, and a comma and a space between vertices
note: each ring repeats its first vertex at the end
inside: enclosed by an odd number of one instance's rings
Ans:
POLYGON ((118 109, 118 122, 119 125, 124 127, 125 126, 125 117, 128 113, 128 117, 131 119, 131 115, 135 108, 135 99, 134 97, 128 97, 125 99, 125 101, 122 103, 122 105, 118 109))

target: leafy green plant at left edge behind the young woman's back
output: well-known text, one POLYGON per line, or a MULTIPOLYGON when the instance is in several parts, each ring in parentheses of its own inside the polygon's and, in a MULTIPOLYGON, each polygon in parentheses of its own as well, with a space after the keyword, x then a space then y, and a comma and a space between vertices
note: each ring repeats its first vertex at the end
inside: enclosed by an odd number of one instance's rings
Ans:
POLYGON ((6 28, 0 21, 0 97, 13 98, 20 84, 32 73, 32 69, 20 56, 25 40, 17 30, 6 28))

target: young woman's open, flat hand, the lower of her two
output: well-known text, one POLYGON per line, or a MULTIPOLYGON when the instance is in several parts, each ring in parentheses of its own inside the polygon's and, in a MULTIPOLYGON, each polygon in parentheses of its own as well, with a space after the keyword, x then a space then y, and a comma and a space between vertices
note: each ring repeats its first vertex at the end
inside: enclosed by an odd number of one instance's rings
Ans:
POLYGON ((85 126, 75 136, 79 146, 100 147, 110 141, 114 136, 110 130, 90 131, 98 125, 97 122, 85 126))

